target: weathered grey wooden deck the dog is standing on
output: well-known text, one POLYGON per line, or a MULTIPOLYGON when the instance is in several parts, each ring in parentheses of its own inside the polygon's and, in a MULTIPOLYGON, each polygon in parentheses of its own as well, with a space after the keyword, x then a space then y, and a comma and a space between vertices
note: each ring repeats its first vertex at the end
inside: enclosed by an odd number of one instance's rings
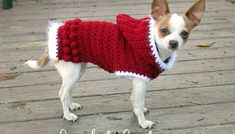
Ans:
MULTIPOLYGON (((79 121, 62 119, 58 98, 61 79, 47 66, 31 70, 23 63, 37 58, 46 44, 47 20, 102 19, 115 21, 118 13, 143 17, 151 0, 16 0, 13 9, 0 10, 1 134, 88 134, 128 128, 140 129, 129 101, 131 84, 90 65, 75 101, 83 105, 79 121)), ((169 0, 171 11, 184 12, 196 0, 169 0)), ((169 72, 150 82, 146 116, 157 122, 154 134, 235 133, 235 5, 225 0, 206 0, 202 24, 179 53, 169 72), (198 44, 213 44, 208 48, 198 44)))

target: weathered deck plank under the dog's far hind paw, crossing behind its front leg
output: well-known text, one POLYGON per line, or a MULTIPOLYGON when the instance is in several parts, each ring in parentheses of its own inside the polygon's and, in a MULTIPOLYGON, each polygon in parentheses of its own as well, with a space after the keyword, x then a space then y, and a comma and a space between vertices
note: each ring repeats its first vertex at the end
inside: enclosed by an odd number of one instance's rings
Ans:
MULTIPOLYGON (((34 96, 36 95, 39 94, 34 96)), ((152 111, 154 109, 221 104, 235 102, 234 95, 233 85, 149 91, 146 94, 146 107, 152 111), (221 90, 222 88, 223 90, 221 90)), ((76 113, 81 116, 88 116, 98 113, 132 111, 129 98, 130 91, 128 90, 121 94, 76 98, 74 99, 75 102, 83 105, 83 110, 76 113)), ((59 118, 62 115, 59 98, 33 102, 26 102, 24 99, 15 103, 2 104, 0 111, 2 111, 0 112, 0 124, 59 118)))

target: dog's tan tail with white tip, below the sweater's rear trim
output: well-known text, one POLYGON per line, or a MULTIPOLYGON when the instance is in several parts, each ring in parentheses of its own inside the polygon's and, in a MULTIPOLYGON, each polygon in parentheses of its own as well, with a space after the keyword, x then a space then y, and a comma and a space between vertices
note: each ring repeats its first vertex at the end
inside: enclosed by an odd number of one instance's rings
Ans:
POLYGON ((43 54, 39 57, 38 60, 28 60, 25 62, 29 67, 33 69, 40 69, 47 65, 49 62, 48 48, 46 47, 43 54))

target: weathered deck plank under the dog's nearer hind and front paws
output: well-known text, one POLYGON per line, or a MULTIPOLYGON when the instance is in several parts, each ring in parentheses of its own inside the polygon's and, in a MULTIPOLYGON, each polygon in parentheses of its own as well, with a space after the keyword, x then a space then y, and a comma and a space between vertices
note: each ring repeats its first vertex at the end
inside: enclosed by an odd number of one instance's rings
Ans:
MULTIPOLYGON (((202 126, 234 125, 234 103, 153 110, 147 118, 158 122, 158 127, 154 129, 154 132, 202 126)), ((120 131, 124 128, 130 129, 133 133, 146 132, 146 130, 139 128, 136 118, 131 112, 81 116, 76 123, 66 123, 61 118, 13 122, 1 124, 0 130, 7 134, 19 132, 24 134, 52 134, 65 128, 68 133, 77 134, 90 132, 92 127, 96 127, 98 133, 104 133, 108 130, 120 131), (112 118, 119 120, 112 120, 112 118)))

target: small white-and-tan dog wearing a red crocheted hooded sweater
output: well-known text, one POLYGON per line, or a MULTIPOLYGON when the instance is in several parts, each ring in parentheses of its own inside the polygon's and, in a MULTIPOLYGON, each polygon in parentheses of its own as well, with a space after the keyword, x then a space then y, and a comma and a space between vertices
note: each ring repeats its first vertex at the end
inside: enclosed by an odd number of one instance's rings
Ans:
POLYGON ((166 0, 153 0, 150 16, 134 19, 117 16, 117 23, 104 21, 69 20, 50 22, 48 47, 36 60, 26 62, 40 69, 49 61, 57 68, 63 83, 59 91, 64 118, 77 120, 70 110, 81 105, 72 101, 72 87, 86 71, 87 63, 132 80, 130 97, 133 111, 142 128, 155 123, 145 119, 146 85, 164 70, 173 66, 176 51, 188 40, 205 12, 205 0, 197 1, 184 15, 170 14, 166 0))

